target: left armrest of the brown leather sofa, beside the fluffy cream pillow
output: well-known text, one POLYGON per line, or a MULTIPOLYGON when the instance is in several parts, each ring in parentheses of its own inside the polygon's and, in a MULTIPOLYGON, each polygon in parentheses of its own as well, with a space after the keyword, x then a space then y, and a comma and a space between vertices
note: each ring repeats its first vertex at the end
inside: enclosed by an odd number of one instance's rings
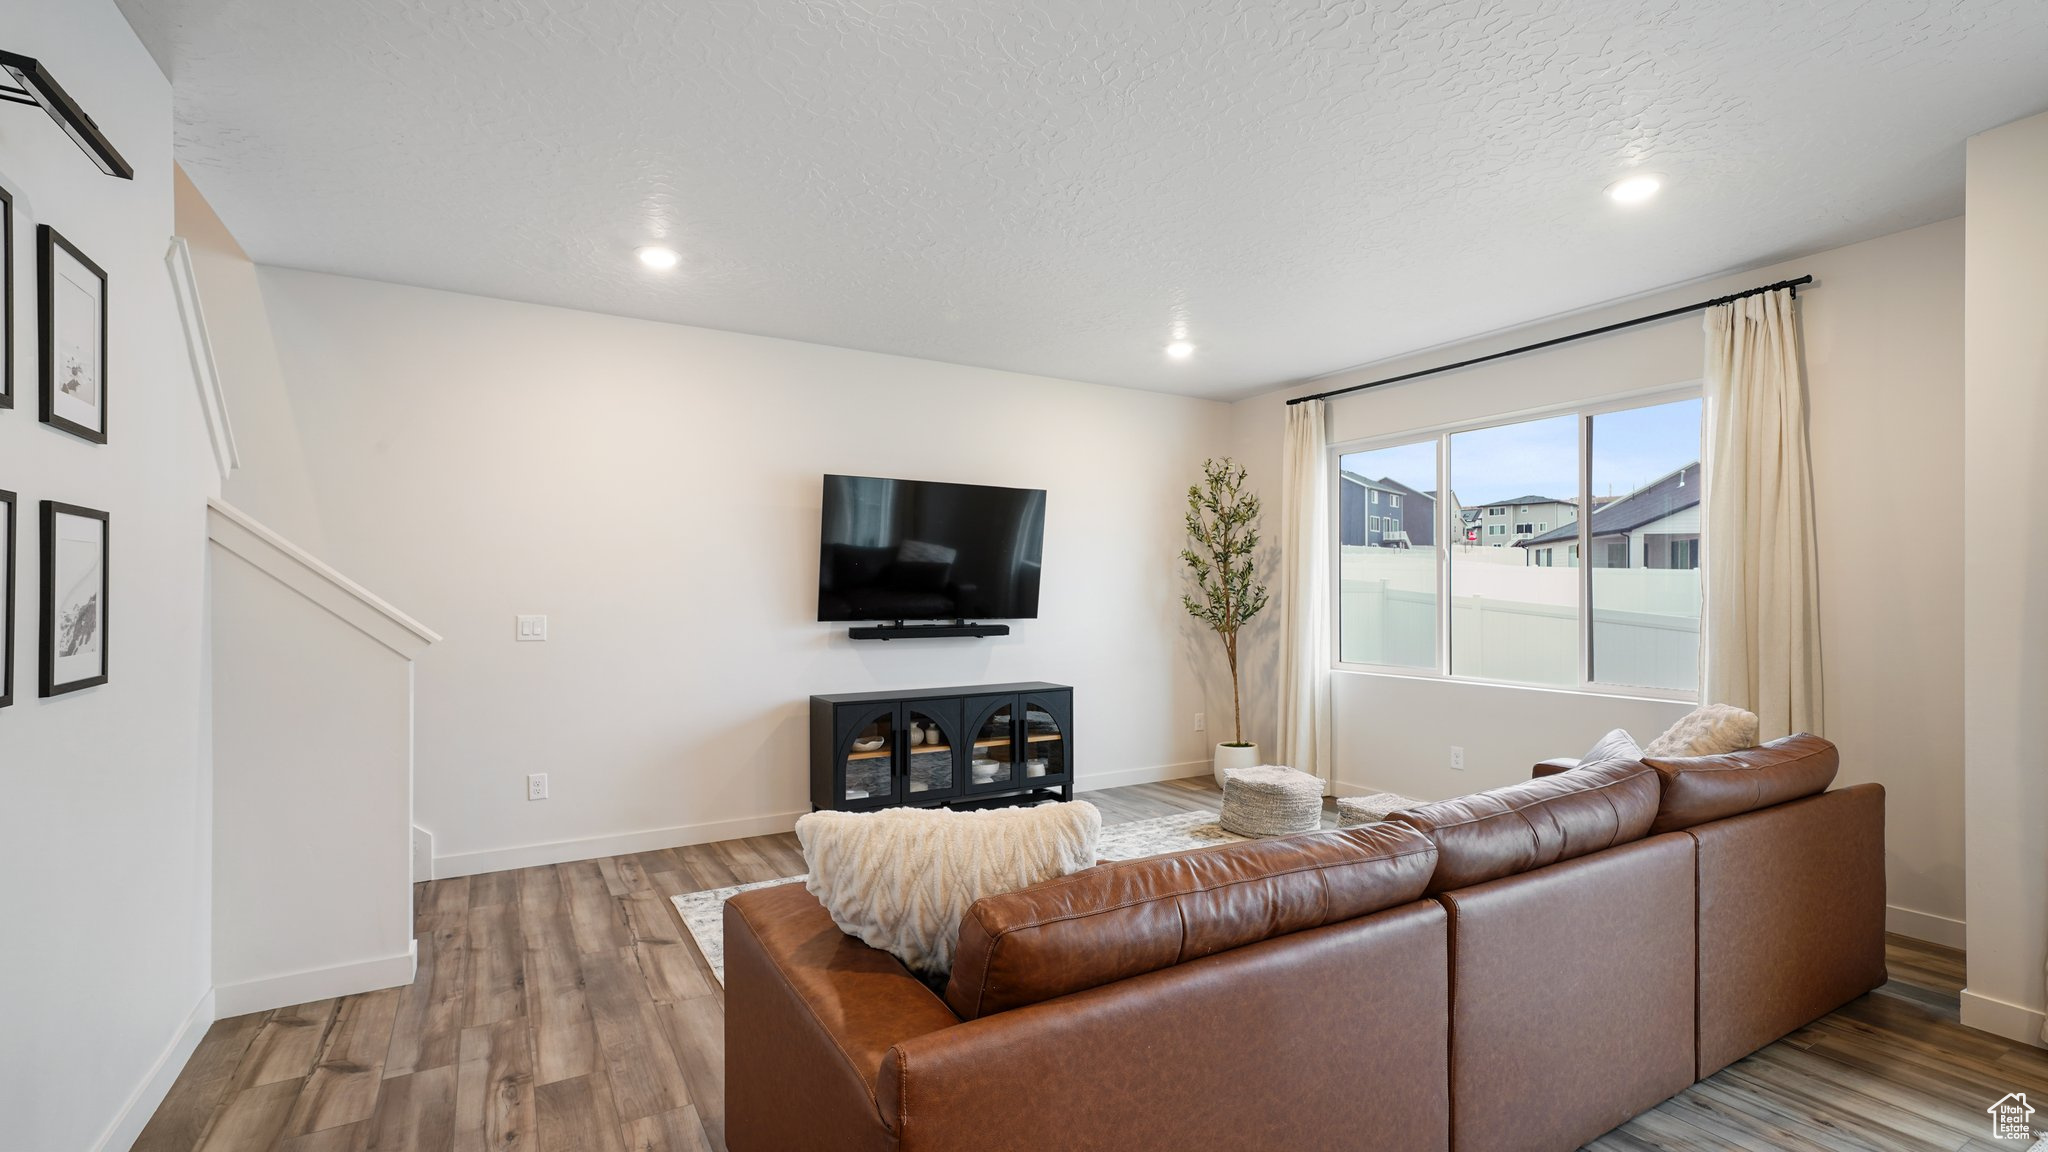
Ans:
POLYGON ((893 1150, 883 1054, 961 1021, 801 883, 725 902, 725 1138, 733 1152, 893 1150), (795 1093, 795 1095, 793 1095, 795 1093))

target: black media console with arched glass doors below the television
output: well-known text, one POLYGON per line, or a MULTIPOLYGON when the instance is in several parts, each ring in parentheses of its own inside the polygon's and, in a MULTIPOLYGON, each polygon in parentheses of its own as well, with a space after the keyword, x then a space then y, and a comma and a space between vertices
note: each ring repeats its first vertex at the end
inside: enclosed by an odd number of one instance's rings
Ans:
POLYGON ((811 806, 1073 799, 1073 689, 971 685, 811 697, 811 806))

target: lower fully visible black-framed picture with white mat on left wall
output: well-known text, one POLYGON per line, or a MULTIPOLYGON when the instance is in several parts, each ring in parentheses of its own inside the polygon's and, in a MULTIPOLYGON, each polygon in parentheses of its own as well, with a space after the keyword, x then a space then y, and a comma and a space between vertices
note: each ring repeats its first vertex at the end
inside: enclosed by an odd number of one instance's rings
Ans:
POLYGON ((106 512, 43 500, 45 697, 106 683, 106 512))

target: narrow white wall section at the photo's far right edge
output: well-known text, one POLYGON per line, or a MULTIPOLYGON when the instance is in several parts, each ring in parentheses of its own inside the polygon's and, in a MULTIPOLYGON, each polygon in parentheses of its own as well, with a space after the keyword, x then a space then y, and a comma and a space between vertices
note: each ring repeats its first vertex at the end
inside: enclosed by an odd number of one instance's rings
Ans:
POLYGON ((2048 115, 1968 150, 1962 1021, 2042 1043, 2048 959, 2048 115))

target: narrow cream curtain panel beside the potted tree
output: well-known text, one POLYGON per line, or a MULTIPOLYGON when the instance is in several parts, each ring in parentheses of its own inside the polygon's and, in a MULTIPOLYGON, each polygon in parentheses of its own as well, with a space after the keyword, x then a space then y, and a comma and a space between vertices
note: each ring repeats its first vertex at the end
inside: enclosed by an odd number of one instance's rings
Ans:
POLYGON ((1329 754, 1329 435, 1321 400, 1286 410, 1280 490, 1280 746, 1274 763, 1333 779, 1329 754))

